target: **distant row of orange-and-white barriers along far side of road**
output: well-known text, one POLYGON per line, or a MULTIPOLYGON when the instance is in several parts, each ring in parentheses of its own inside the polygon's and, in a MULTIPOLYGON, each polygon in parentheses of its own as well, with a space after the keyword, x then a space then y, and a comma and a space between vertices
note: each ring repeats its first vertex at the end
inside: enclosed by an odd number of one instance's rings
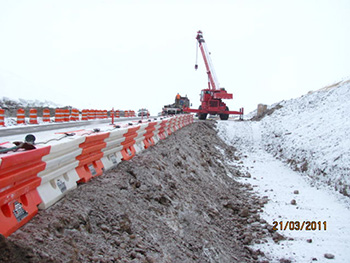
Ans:
MULTIPOLYGON (((109 117, 136 117, 135 111, 107 111, 107 110, 88 110, 84 109, 81 112, 78 109, 61 109, 55 110, 54 118, 51 120, 50 109, 43 109, 43 122, 68 122, 68 121, 87 121, 96 119, 108 119, 109 117)), ((17 110, 17 124, 26 124, 25 110, 17 110)), ((29 124, 38 124, 38 111, 36 109, 29 110, 29 124)), ((5 110, 0 109, 0 127, 5 127, 5 110)))

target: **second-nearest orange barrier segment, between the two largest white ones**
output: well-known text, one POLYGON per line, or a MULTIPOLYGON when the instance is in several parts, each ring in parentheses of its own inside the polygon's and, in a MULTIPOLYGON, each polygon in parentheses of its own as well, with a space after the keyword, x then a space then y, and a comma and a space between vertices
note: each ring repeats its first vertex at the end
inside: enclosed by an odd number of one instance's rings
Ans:
POLYGON ((102 175, 103 164, 101 158, 106 147, 105 139, 109 137, 109 132, 91 134, 86 136, 85 141, 79 145, 82 153, 76 157, 79 165, 75 170, 81 178, 78 183, 86 183, 92 177, 102 175))

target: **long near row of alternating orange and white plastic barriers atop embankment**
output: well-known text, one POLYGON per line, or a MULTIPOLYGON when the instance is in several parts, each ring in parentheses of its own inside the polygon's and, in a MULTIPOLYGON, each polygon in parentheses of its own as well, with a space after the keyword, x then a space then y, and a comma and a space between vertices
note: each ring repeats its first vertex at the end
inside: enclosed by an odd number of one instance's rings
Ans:
POLYGON ((108 132, 56 133, 45 146, 1 154, 0 234, 8 237, 33 218, 38 208, 50 207, 78 183, 101 176, 192 122, 193 116, 184 114, 135 121, 108 132))

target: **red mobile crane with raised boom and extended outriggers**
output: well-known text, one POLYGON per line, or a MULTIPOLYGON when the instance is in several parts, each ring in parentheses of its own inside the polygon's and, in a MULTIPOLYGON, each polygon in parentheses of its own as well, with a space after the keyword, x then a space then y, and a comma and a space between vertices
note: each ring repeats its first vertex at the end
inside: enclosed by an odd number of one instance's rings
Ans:
MULTIPOLYGON (((198 47, 201 50, 204 64, 208 74, 208 88, 203 89, 200 95, 201 105, 197 109, 184 108, 185 112, 195 112, 198 114, 200 120, 205 120, 207 115, 219 115, 221 120, 227 120, 230 114, 240 115, 240 119, 243 118, 243 108, 239 111, 230 111, 223 99, 232 99, 232 93, 227 93, 224 88, 219 87, 219 82, 216 77, 213 63, 210 59, 210 53, 208 52, 207 45, 204 41, 202 31, 197 32, 198 46, 197 46, 197 59, 198 59, 198 47)), ((198 69, 196 60, 195 69, 198 69)))

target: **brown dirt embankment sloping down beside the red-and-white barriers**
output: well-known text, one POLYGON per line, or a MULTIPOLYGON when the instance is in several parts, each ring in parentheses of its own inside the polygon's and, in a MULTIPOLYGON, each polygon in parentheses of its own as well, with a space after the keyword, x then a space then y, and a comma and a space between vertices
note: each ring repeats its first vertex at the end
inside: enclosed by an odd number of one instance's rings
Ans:
MULTIPOLYGON (((235 149, 195 122, 92 179, 9 238, 0 262, 259 262, 266 202, 225 168, 235 149), (259 257, 259 260, 258 260, 259 257)), ((261 257, 262 256, 262 257, 261 257)))

